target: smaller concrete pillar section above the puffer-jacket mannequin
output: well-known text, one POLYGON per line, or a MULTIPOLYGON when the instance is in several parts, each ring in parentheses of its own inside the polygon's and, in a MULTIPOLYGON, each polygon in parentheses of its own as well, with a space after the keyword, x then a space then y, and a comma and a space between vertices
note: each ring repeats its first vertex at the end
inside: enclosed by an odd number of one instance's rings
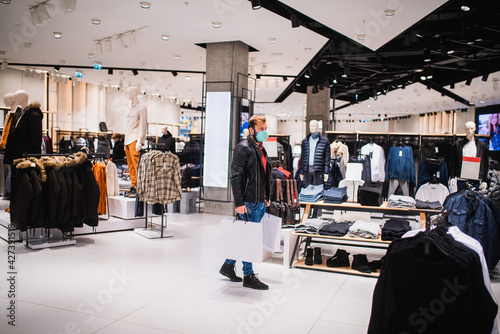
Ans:
POLYGON ((306 117, 306 133, 309 133, 309 122, 314 120, 323 121, 323 128, 321 134, 324 135, 325 131, 331 130, 330 124, 330 88, 320 90, 318 93, 313 94, 313 87, 307 87, 307 117, 306 117))

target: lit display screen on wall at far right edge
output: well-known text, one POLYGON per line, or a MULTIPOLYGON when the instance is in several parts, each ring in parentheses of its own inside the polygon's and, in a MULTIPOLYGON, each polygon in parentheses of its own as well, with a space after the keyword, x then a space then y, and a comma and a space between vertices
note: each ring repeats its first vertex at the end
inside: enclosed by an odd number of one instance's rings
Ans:
POLYGON ((492 152, 500 152, 500 105, 476 108, 477 133, 487 135, 479 138, 488 144, 492 152))

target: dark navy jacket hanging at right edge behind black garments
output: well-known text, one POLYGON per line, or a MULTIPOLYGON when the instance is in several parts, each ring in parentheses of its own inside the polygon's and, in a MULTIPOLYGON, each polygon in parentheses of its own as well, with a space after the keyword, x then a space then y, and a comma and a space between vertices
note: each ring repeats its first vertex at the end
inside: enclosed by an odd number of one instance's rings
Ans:
POLYGON ((448 221, 478 240, 483 247, 488 268, 500 260, 500 213, 495 203, 473 190, 463 190, 446 198, 448 221))

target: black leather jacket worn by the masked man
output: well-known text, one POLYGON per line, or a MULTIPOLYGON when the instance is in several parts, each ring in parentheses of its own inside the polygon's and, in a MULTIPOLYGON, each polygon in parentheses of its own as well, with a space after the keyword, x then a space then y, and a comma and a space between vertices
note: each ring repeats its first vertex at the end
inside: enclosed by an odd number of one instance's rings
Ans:
MULTIPOLYGON (((266 150, 263 149, 266 156, 266 150)), ((267 162, 266 171, 262 164, 262 153, 251 137, 240 142, 233 153, 231 164, 231 186, 234 204, 245 205, 244 202, 263 203, 269 199, 271 184, 271 164, 267 162), (267 173, 266 173, 267 171, 267 173)))

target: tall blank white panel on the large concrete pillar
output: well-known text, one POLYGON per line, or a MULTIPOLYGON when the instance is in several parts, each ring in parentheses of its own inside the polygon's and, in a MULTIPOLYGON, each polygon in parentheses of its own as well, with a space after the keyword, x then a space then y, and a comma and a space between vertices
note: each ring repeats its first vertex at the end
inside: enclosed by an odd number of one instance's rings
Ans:
POLYGON ((231 93, 208 92, 206 103, 205 187, 228 187, 231 93))

